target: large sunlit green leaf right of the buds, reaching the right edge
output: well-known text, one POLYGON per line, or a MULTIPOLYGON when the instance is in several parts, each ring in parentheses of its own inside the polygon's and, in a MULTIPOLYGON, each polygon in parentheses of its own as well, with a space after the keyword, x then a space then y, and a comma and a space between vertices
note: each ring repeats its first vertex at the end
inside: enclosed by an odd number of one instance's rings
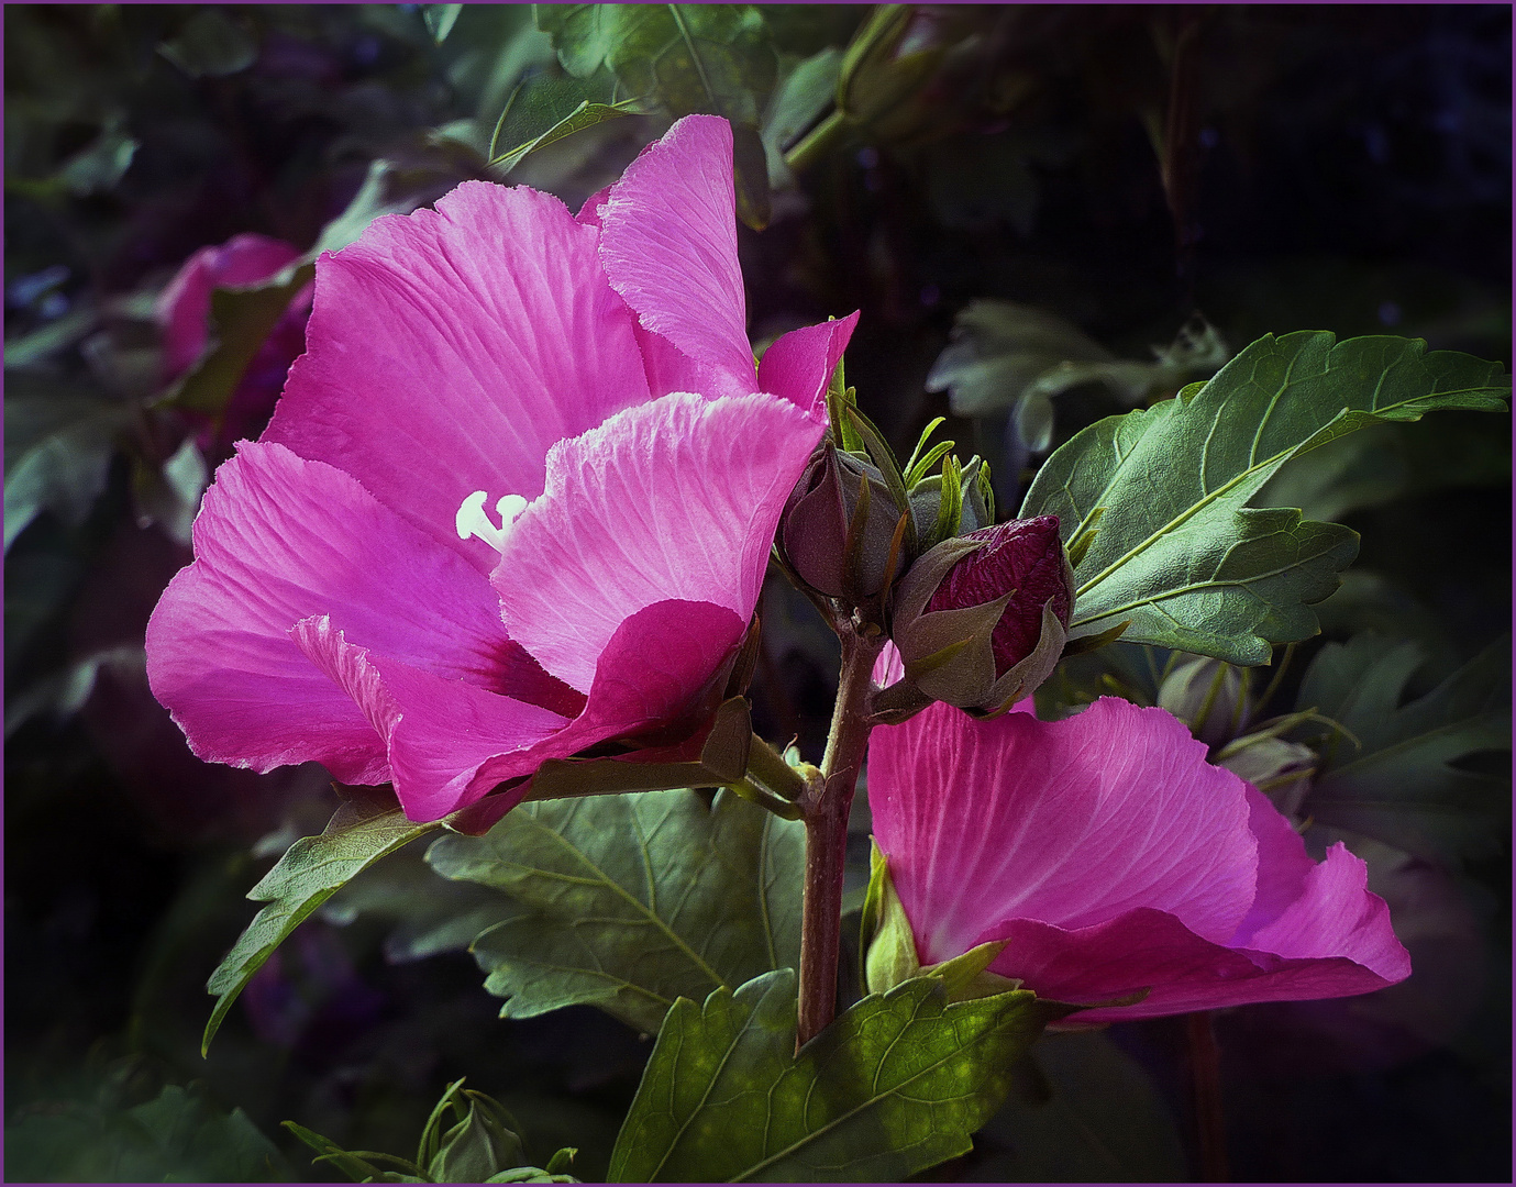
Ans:
POLYGON ((1339 525, 1248 502, 1290 458, 1384 420, 1496 411, 1510 376, 1404 338, 1263 338, 1208 384, 1076 434, 1038 471, 1020 514, 1058 515, 1064 541, 1101 514, 1075 568, 1070 638, 1131 620, 1131 643, 1234 664, 1317 629, 1307 609, 1357 553, 1339 525))

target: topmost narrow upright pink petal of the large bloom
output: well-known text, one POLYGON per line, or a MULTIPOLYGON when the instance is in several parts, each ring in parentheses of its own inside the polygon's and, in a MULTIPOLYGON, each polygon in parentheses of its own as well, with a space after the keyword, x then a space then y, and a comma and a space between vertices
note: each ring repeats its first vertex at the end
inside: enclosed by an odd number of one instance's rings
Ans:
MULTIPOLYGON (((732 129, 687 115, 597 206, 600 259, 641 326, 711 368, 709 396, 758 390, 737 264, 732 129)), ((581 212, 581 218, 584 214, 581 212)))

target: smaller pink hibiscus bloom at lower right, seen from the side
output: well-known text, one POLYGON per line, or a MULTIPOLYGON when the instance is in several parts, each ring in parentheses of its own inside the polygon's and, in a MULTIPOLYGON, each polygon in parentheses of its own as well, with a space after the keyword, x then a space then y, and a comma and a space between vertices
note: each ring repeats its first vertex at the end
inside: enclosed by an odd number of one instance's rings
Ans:
POLYGON ((932 705, 881 726, 869 805, 917 955, 1007 940, 990 966, 1081 1022, 1343 998, 1410 975, 1342 844, 1311 861, 1269 800, 1163 709, 1064 722, 932 705))

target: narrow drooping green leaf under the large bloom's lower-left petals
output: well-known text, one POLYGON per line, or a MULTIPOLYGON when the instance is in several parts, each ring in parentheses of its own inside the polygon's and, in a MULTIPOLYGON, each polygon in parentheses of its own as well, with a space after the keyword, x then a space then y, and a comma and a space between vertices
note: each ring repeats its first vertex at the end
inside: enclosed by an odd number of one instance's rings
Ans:
POLYGON ((262 881, 247 891, 249 899, 268 905, 253 916, 206 984, 217 1002, 205 1028, 202 1054, 209 1049, 243 987, 290 932, 361 870, 441 826, 441 820, 418 825, 399 808, 352 799, 337 810, 320 837, 302 837, 291 844, 262 881))

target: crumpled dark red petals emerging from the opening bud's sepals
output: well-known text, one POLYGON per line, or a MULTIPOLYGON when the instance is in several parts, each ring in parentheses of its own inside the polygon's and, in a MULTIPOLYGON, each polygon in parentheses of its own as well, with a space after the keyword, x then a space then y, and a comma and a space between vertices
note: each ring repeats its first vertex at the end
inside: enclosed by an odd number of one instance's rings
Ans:
POLYGON ((1073 588, 1058 540, 1058 517, 998 523, 964 538, 982 540, 984 546, 948 570, 937 593, 928 599, 926 611, 978 606, 1011 594, 990 635, 999 678, 1037 647, 1043 606, 1051 605, 1058 622, 1069 625, 1073 588))

